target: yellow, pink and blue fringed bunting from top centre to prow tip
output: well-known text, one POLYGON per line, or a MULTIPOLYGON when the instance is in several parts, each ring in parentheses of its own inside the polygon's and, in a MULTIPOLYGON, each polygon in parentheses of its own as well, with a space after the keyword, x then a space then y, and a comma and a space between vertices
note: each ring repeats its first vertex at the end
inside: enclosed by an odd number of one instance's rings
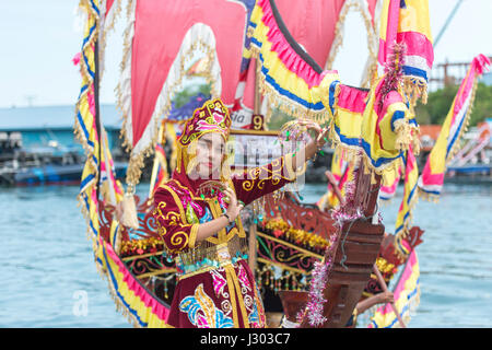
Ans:
MULTIPOLYGON (((370 92, 341 84, 336 71, 323 70, 293 39, 268 0, 257 1, 250 30, 253 51, 261 63, 260 85, 271 105, 296 117, 331 122, 333 147, 342 147, 348 161, 362 148, 368 168, 380 174, 394 166, 418 127, 401 86, 386 83, 394 75, 385 72, 370 92)), ((389 63, 401 71, 401 57, 394 57, 389 63)))

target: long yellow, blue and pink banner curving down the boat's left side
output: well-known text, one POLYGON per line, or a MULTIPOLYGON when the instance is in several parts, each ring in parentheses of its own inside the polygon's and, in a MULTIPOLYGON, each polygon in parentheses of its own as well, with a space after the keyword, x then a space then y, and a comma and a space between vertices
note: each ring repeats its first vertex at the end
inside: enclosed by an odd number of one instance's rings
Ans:
POLYGON ((82 75, 74 129, 87 156, 82 172, 79 200, 87 219, 94 259, 98 271, 109 282, 109 291, 119 311, 136 326, 165 327, 168 305, 154 298, 115 252, 118 221, 112 221, 109 242, 101 235, 99 203, 116 206, 122 197, 122 187, 114 175, 107 135, 97 114, 95 89, 98 84, 96 67, 101 63, 103 49, 101 33, 105 30, 104 23, 106 25, 112 23, 113 20, 108 19, 114 15, 112 11, 119 9, 119 1, 82 0, 80 8, 86 14, 86 21, 81 52, 74 60, 75 63, 80 63, 82 75), (99 48, 98 52, 95 49, 96 45, 99 48))

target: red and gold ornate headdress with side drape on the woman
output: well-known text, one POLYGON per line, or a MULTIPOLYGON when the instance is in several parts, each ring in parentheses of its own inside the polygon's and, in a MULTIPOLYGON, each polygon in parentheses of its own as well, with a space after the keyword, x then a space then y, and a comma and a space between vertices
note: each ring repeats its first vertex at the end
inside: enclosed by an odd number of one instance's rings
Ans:
POLYGON ((201 108, 195 109, 191 118, 186 120, 177 142, 176 172, 184 173, 188 170, 190 161, 196 154, 195 141, 208 132, 219 132, 226 142, 230 128, 231 116, 220 98, 209 100, 201 108))

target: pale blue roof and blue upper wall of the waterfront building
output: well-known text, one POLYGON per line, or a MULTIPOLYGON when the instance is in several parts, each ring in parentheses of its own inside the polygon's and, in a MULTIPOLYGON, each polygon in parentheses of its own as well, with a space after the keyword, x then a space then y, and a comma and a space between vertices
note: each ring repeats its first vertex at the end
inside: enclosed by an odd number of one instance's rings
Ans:
MULTIPOLYGON (((99 110, 112 153, 120 155, 120 113, 115 105, 101 105, 99 110)), ((0 108, 0 138, 20 132, 22 145, 27 149, 58 143, 83 153, 73 133, 74 121, 74 105, 0 108)))

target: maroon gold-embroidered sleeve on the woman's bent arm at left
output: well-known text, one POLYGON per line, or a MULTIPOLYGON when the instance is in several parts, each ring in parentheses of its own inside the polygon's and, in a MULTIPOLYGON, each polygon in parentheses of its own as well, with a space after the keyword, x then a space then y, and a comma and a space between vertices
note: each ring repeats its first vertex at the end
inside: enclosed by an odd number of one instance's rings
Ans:
POLYGON ((154 194, 153 211, 157 232, 169 253, 194 248, 198 223, 189 224, 179 197, 171 187, 160 187, 154 194))

